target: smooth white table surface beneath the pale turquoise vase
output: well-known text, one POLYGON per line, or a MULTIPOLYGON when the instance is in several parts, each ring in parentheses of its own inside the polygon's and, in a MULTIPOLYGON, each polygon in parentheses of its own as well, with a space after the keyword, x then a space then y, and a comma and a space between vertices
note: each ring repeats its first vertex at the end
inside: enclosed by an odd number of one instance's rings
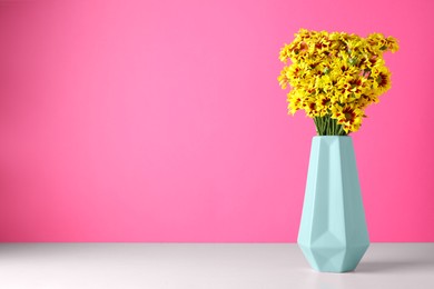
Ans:
POLYGON ((0 288, 434 288, 434 243, 372 243, 347 273, 295 243, 0 243, 0 288))

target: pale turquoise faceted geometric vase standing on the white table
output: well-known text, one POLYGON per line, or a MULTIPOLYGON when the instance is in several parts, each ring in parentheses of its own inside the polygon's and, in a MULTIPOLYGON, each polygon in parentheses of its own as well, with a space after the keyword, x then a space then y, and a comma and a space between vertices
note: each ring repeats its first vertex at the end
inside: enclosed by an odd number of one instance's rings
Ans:
POLYGON ((322 272, 353 271, 369 246, 351 137, 313 138, 298 246, 322 272))

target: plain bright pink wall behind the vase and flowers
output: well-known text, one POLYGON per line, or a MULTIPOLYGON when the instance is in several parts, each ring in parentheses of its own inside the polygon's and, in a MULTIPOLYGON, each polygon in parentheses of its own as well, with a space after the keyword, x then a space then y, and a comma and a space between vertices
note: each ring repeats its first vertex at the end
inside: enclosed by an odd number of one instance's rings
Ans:
POLYGON ((354 134, 372 241, 434 241, 434 1, 0 1, 0 241, 296 241, 313 121, 278 52, 378 31, 354 134))

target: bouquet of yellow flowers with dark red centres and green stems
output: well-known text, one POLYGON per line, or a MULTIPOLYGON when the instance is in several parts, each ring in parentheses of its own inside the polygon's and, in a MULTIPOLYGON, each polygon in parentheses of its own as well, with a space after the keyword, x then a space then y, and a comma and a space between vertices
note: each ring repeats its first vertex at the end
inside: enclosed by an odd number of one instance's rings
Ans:
POLYGON ((292 87, 288 112, 305 110, 319 136, 357 131, 366 107, 391 88, 383 53, 397 50, 397 40, 381 33, 362 38, 300 29, 279 54, 285 63, 279 84, 292 87))

